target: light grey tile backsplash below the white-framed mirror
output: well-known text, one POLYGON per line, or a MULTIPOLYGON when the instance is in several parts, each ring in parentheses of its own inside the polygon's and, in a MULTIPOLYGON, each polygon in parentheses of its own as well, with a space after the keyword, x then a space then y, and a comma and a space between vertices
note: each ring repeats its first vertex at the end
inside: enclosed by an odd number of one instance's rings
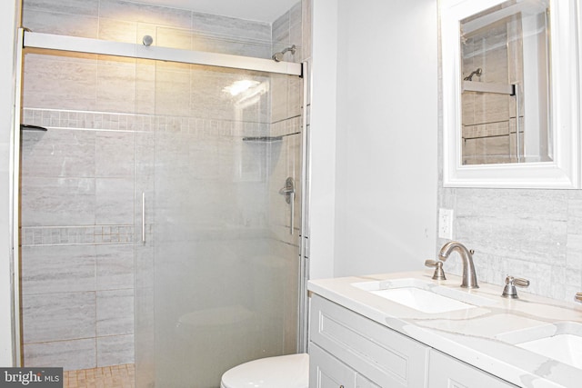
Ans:
MULTIPOLYGON (((454 210, 454 238, 475 250, 480 281, 501 293, 507 274, 523 277, 527 292, 566 301, 582 291, 582 191, 441 188, 439 205, 454 210)), ((445 270, 461 274, 452 256, 445 270)))

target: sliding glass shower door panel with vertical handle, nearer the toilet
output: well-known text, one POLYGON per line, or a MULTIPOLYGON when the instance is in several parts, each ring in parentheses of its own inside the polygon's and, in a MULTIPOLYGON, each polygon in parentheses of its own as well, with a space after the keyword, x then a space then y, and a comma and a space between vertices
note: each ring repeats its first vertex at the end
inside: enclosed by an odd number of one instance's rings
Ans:
POLYGON ((218 387, 298 349, 302 80, 153 61, 137 78, 137 386, 218 387))

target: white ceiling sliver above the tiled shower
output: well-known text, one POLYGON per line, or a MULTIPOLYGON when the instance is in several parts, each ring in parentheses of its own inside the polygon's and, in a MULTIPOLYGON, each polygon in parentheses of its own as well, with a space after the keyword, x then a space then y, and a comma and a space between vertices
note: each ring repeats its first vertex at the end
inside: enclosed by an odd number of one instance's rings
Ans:
POLYGON ((299 0, 134 0, 136 3, 163 5, 205 14, 273 23, 299 0))

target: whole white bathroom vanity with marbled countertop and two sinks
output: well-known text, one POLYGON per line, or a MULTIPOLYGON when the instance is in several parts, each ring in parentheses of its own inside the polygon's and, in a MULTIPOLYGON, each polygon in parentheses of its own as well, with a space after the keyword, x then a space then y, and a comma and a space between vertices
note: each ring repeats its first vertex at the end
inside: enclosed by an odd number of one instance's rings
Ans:
POLYGON ((582 304, 431 276, 310 281, 309 386, 580 386, 582 304))

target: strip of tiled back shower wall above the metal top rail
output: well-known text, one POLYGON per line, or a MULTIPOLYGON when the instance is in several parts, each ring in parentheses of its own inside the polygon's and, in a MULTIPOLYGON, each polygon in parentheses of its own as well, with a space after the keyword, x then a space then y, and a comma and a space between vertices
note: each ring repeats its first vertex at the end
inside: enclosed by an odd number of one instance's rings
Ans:
POLYGON ((271 25, 123 0, 25 0, 23 25, 39 33, 98 38, 262 58, 271 25))

